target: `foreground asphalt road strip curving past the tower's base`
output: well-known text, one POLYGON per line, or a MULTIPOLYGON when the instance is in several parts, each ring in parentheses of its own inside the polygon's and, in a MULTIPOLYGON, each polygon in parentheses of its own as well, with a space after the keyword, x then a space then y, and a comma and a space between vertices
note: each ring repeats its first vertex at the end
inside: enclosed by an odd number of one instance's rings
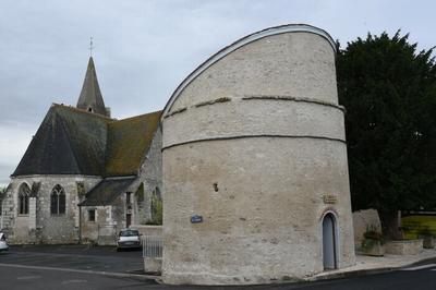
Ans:
POLYGON ((107 277, 104 275, 69 273, 52 269, 16 268, 0 265, 0 289, 10 290, 99 290, 99 289, 226 289, 226 290, 435 290, 436 264, 431 268, 393 271, 389 274, 355 277, 350 279, 325 280, 299 285, 269 285, 246 287, 190 287, 165 286, 153 281, 135 280, 131 278, 107 277))

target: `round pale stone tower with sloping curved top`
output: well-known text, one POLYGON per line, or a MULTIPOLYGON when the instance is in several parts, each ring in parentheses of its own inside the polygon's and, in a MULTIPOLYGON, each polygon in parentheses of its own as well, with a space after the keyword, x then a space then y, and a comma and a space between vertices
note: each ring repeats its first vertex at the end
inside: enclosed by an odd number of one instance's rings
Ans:
POLYGON ((308 25, 249 35, 162 117, 167 283, 259 283, 354 264, 335 43, 308 25))

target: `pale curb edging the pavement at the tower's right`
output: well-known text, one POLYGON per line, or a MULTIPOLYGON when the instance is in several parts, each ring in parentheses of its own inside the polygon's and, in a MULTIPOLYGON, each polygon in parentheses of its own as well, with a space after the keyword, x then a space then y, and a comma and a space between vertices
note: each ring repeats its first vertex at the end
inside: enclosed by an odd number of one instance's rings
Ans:
POLYGON ((408 268, 411 266, 416 266, 416 265, 422 265, 422 264, 427 264, 428 262, 434 262, 436 259, 435 257, 426 257, 423 259, 419 259, 412 263, 408 263, 401 266, 396 266, 396 267, 378 267, 378 268, 368 268, 368 269, 359 269, 359 270, 350 270, 350 271, 341 271, 341 273, 332 273, 328 275, 323 275, 323 276, 312 276, 307 277, 304 280, 307 282, 313 282, 313 281, 323 281, 323 280, 330 280, 330 279, 343 279, 343 278, 354 278, 358 276, 368 276, 368 275, 375 275, 375 274, 384 274, 384 273, 389 273, 389 271, 395 271, 395 270, 400 270, 403 268, 408 268))

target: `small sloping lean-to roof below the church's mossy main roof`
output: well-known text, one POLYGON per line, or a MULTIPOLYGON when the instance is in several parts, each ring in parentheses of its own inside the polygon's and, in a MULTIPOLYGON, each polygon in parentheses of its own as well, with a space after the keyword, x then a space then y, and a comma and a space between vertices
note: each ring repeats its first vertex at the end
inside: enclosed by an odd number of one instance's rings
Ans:
POLYGON ((126 192, 135 180, 136 177, 104 179, 86 194, 80 206, 110 205, 120 194, 126 192))

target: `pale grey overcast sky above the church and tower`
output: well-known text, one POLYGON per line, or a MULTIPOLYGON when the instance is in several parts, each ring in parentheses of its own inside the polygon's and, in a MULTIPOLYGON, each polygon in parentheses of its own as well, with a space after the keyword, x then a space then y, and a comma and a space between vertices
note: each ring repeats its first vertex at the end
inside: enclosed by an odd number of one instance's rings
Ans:
POLYGON ((431 0, 0 0, 0 185, 50 105, 76 105, 90 36, 106 106, 121 119, 162 109, 199 63, 253 32, 306 23, 343 47, 401 28, 429 49, 435 11, 431 0))

